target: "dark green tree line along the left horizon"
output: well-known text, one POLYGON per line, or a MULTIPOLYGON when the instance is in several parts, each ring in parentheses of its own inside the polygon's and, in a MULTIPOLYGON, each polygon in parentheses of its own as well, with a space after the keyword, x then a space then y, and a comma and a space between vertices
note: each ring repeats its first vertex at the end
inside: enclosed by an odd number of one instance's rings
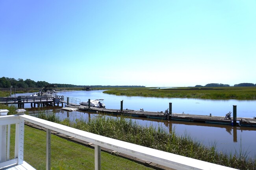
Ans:
MULTIPOLYGON (((2 77, 0 78, 0 88, 10 88, 11 86, 16 88, 43 88, 46 85, 49 85, 50 83, 45 81, 37 81, 30 79, 14 79, 14 78, 8 78, 8 77, 2 77)), ((84 85, 74 85, 74 84, 53 84, 56 85, 58 88, 84 88, 84 85)), ((121 88, 135 88, 135 87, 145 87, 145 86, 90 86, 91 88, 107 88, 107 87, 121 87, 121 88)))

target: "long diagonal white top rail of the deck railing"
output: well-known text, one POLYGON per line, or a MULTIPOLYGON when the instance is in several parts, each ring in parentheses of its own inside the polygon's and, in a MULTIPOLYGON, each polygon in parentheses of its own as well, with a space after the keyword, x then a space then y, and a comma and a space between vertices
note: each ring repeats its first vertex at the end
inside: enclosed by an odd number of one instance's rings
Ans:
POLYGON ((82 130, 70 128, 68 126, 45 121, 29 115, 19 115, 19 117, 23 121, 26 120, 39 126, 43 126, 56 132, 69 135, 71 137, 75 137, 77 139, 81 139, 83 141, 87 141, 89 143, 93 143, 104 148, 115 150, 117 152, 121 152, 178 170, 234 170, 233 168, 228 168, 226 166, 216 165, 197 159, 171 154, 168 152, 163 152, 160 150, 139 146, 124 141, 118 141, 116 139, 111 139, 82 130))

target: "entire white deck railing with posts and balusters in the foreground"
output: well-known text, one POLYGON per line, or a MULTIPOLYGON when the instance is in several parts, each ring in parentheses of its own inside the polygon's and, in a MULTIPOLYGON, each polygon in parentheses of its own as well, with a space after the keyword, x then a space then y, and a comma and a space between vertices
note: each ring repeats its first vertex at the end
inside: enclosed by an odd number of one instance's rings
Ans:
POLYGON ((93 133, 85 132, 75 128, 70 128, 61 124, 57 124, 50 121, 45 121, 29 115, 9 115, 0 117, 0 136, 1 136, 1 161, 0 169, 3 166, 9 164, 21 164, 23 162, 23 140, 24 140, 24 121, 37 124, 46 128, 46 170, 50 170, 50 132, 54 130, 70 137, 75 137, 83 141, 95 144, 95 170, 100 170, 100 148, 108 148, 117 152, 121 152, 139 159, 144 159, 157 163, 169 168, 178 170, 234 170, 221 165, 200 161, 160 150, 139 146, 116 139, 96 135, 93 133), (15 138, 15 158, 8 160, 9 157, 4 156, 9 153, 9 126, 10 124, 16 124, 16 138, 15 138), (6 128, 8 130, 6 132, 6 128), (5 134, 7 134, 7 140, 4 140, 5 134), (6 142, 7 141, 7 142, 6 142), (6 148, 6 149, 5 149, 6 148), (6 152, 6 153, 5 153, 6 152), (3 159, 2 159, 3 157, 3 159))

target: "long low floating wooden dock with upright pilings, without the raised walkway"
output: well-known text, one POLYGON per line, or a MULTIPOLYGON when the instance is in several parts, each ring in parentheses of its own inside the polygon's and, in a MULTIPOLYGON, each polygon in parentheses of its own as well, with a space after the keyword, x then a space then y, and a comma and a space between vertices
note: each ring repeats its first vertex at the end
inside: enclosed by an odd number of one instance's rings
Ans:
POLYGON ((183 113, 172 113, 171 115, 166 115, 164 112, 148 112, 148 111, 138 111, 138 110, 119 110, 119 109, 106 109, 106 108, 88 108, 87 106, 68 106, 78 108, 79 110, 87 112, 98 112, 106 113, 110 115, 124 115, 129 117, 144 117, 152 119, 168 119, 175 121, 188 121, 188 122, 202 122, 202 123, 212 123, 212 124, 226 124, 226 125, 240 125, 240 126, 250 126, 256 127, 256 119, 237 117, 237 121, 233 122, 233 117, 231 119, 225 119, 225 116, 210 116, 210 115, 191 115, 183 113))

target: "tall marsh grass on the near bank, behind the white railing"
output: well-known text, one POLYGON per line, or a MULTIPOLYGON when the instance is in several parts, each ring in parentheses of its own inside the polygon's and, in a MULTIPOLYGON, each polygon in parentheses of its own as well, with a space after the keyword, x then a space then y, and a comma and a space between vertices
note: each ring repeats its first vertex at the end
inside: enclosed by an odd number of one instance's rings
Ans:
POLYGON ((90 121, 76 119, 75 122, 65 119, 59 123, 113 139, 223 166, 241 170, 253 170, 256 167, 255 158, 247 157, 246 153, 241 154, 241 150, 234 155, 218 153, 214 144, 211 147, 206 147, 202 143, 193 141, 188 135, 177 136, 175 130, 168 133, 162 127, 141 126, 132 119, 125 117, 101 116, 91 118, 90 121))

